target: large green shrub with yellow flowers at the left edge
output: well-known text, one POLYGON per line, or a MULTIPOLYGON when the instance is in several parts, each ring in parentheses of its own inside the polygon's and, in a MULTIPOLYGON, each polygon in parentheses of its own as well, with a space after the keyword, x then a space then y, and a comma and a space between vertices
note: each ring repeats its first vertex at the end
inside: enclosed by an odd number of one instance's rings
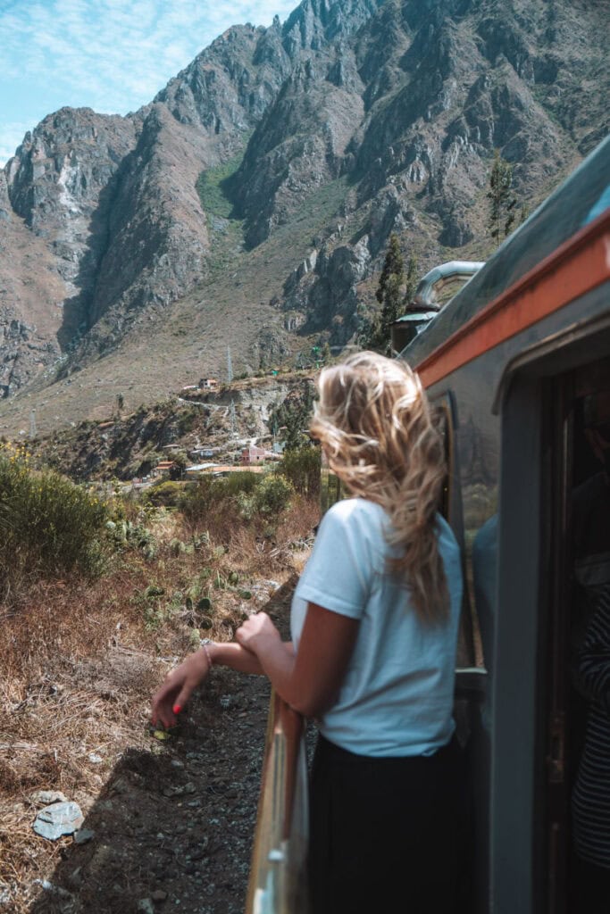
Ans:
POLYGON ((16 582, 102 570, 107 505, 59 473, 34 473, 0 452, 0 596, 16 582))

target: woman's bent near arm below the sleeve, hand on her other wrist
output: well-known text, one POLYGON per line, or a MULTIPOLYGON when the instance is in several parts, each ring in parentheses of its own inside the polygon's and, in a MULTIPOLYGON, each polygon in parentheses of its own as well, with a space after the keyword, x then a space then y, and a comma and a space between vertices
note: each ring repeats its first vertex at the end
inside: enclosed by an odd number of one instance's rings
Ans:
POLYGON ((284 701, 305 717, 319 717, 337 698, 358 628, 358 620, 308 603, 296 654, 265 612, 251 616, 235 637, 256 654, 284 701))

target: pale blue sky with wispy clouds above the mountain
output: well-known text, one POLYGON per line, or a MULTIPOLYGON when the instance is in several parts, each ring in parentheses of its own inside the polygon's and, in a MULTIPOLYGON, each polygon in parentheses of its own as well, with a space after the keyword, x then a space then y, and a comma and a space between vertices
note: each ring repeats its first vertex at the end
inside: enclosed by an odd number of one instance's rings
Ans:
POLYGON ((125 114, 225 28, 284 22, 298 0, 0 0, 0 167, 64 105, 125 114))

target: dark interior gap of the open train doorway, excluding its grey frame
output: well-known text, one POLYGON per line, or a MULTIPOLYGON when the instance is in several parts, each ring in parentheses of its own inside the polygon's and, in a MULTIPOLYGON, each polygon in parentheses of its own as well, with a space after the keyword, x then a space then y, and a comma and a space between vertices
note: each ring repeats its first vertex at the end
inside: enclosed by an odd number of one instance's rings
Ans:
POLYGON ((610 359, 551 381, 547 910, 610 909, 610 359))

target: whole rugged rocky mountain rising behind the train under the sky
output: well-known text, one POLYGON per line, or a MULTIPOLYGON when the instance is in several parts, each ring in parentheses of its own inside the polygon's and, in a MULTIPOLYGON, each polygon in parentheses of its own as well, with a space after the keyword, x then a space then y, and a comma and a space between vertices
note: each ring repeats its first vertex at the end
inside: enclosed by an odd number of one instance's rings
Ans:
MULTIPOLYGON (((494 149, 532 205, 608 130, 608 0, 303 0, 125 117, 62 109, 0 172, 0 431, 356 332, 391 231, 489 250, 494 149)), ((291 355, 292 354, 292 355, 291 355)))

